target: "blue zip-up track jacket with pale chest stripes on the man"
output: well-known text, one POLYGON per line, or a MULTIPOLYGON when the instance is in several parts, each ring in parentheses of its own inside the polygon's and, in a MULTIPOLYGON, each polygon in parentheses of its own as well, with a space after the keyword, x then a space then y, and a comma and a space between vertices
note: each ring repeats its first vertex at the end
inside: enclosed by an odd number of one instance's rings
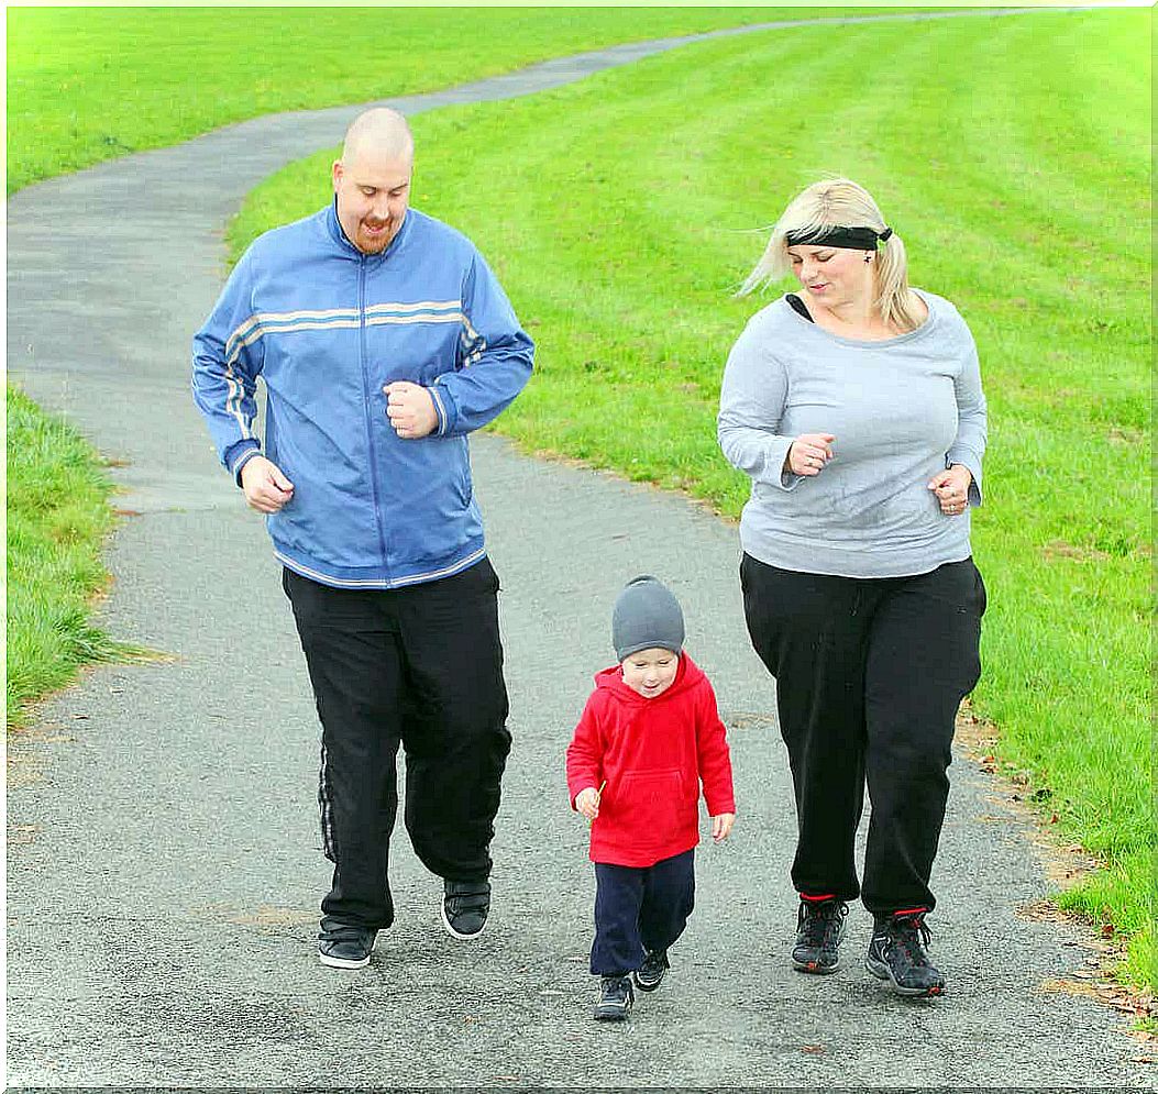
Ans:
POLYGON ((395 588, 477 563, 485 549, 467 434, 530 376, 534 344, 462 234, 416 210, 364 255, 331 205, 257 238, 193 338, 193 398, 236 478, 262 443, 294 485, 267 517, 277 557, 338 588, 395 588), (402 440, 382 388, 425 386, 428 436, 402 440))

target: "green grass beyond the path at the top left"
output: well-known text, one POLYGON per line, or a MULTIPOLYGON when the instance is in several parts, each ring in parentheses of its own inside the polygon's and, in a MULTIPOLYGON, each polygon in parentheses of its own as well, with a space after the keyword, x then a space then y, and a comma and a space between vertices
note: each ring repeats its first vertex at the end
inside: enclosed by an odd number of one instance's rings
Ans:
POLYGON ((8 192, 244 118, 855 8, 9 8, 8 192))

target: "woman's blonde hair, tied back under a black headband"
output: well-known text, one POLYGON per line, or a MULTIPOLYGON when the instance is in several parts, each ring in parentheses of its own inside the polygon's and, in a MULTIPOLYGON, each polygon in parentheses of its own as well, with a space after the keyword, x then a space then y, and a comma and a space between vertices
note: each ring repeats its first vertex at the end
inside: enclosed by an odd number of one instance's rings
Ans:
MULTIPOLYGON (((849 178, 828 178, 800 191, 772 225, 772 234, 760 262, 745 279, 736 295, 745 296, 786 277, 792 270, 786 236, 789 233, 812 233, 822 228, 887 227, 872 194, 849 178)), ((916 293, 909 288, 909 262, 904 243, 894 232, 878 244, 873 266, 875 298, 873 306, 889 326, 915 330, 922 322, 916 293)))

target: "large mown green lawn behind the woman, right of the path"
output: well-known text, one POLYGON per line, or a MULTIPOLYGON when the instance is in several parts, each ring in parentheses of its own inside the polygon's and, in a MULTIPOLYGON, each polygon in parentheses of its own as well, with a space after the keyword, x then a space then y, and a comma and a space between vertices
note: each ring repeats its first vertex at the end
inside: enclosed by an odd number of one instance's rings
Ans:
MULTIPOLYGON (((1102 10, 689 46, 416 118, 413 201, 476 240, 538 343, 504 433, 735 516, 747 480, 714 413, 761 303, 731 295, 763 245, 752 229, 823 171, 875 193, 914 284, 953 300, 981 351, 990 609, 974 707, 1058 838, 1106 864, 1060 901, 1113 924, 1123 976, 1158 986, 1150 41, 1149 12, 1102 10)), ((258 190, 235 252, 328 200, 332 155, 258 190)))

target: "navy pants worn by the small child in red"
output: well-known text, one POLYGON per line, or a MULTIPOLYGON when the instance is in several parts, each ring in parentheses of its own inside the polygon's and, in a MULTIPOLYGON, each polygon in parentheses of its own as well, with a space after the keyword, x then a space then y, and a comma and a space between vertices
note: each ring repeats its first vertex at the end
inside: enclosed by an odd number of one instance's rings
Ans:
POLYGON ((595 976, 624 976, 645 950, 667 949, 683 933, 696 900, 694 857, 690 850, 653 866, 595 864, 595 976))

